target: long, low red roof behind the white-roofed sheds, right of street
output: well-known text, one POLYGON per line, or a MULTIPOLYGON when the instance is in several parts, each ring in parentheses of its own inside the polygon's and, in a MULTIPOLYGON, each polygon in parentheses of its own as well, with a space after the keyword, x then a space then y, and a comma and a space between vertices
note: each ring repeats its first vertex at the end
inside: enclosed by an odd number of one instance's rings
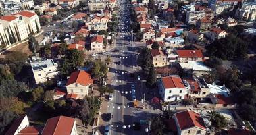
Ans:
POLYGON ((201 50, 177 50, 178 57, 203 57, 201 50))

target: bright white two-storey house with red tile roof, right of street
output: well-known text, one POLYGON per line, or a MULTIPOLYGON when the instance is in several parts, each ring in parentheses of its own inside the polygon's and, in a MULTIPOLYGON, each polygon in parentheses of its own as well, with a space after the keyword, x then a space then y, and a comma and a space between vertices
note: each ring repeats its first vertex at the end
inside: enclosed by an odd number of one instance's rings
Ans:
POLYGON ((166 76, 161 78, 158 88, 163 101, 181 100, 188 94, 188 89, 184 86, 180 76, 166 76))

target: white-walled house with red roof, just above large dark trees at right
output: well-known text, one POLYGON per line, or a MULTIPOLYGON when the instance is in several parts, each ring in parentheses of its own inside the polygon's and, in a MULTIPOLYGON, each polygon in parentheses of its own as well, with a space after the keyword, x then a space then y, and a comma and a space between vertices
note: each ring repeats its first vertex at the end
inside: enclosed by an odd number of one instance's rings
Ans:
POLYGON ((205 36, 211 40, 225 38, 227 32, 220 28, 211 28, 208 32, 205 32, 205 36))

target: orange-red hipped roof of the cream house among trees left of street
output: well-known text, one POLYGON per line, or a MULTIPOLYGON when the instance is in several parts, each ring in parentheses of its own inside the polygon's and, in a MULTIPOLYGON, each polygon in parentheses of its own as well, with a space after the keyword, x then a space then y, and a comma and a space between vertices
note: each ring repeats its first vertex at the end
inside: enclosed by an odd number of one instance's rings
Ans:
POLYGON ((93 84, 93 79, 91 79, 91 75, 88 74, 86 71, 79 70, 76 72, 72 72, 70 78, 68 78, 66 86, 74 83, 87 86, 93 84))

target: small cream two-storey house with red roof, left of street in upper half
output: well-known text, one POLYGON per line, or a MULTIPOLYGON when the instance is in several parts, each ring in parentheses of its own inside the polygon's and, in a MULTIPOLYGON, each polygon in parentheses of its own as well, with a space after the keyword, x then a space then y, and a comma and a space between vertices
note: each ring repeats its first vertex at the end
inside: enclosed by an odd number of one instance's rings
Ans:
POLYGON ((103 51, 103 36, 93 36, 91 39, 91 51, 103 51))

